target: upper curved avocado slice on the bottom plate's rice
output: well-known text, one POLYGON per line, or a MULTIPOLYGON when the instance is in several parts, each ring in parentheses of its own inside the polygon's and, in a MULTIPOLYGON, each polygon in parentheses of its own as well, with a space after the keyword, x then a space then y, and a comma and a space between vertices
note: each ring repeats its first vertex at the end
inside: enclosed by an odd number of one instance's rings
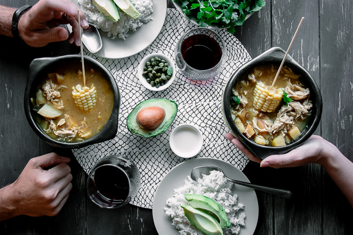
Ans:
POLYGON ((214 213, 218 217, 222 228, 230 227, 229 219, 223 206, 215 200, 199 194, 185 194, 184 197, 193 208, 200 208, 214 213))

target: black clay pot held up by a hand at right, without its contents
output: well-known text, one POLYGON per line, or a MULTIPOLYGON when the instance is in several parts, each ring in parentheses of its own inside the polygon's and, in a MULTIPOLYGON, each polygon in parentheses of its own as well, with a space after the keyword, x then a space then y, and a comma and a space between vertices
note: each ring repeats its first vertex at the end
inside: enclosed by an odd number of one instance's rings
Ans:
POLYGON ((284 55, 285 55, 285 51, 282 48, 273 47, 265 51, 264 53, 260 54, 256 58, 252 59, 248 63, 244 64, 228 80, 222 97, 223 118, 230 132, 245 146, 247 146, 256 157, 260 159, 265 159, 266 157, 273 154, 287 153, 290 150, 303 144, 303 142, 306 141, 314 133, 321 119, 322 97, 318 86, 316 85, 311 75, 300 64, 298 64, 291 56, 287 55, 284 65, 291 68, 296 74, 301 75, 303 84, 310 89, 310 100, 312 101, 312 104, 313 104, 313 108, 311 110, 311 115, 309 117, 307 127, 303 130, 302 135, 296 141, 292 141, 291 143, 285 146, 272 147, 267 145, 260 145, 248 139, 246 136, 240 133, 238 128, 235 126, 230 113, 230 98, 232 95, 232 88, 235 86, 235 84, 239 79, 243 78, 245 74, 249 73, 249 71, 252 71, 254 67, 259 66, 261 64, 269 64, 269 63, 279 65, 283 60, 284 55))

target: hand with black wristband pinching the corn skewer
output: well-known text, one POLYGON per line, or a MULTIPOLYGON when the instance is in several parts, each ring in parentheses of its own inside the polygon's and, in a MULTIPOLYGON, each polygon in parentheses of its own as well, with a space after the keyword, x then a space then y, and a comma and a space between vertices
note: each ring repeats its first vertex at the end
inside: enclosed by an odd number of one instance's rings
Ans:
MULTIPOLYGON (((64 41, 80 45, 77 10, 79 8, 71 0, 40 0, 19 20, 20 37, 31 47, 43 47, 51 42, 64 41), (60 24, 71 24, 73 33, 70 37, 60 24)), ((80 20, 83 28, 88 27, 81 10, 80 20)))

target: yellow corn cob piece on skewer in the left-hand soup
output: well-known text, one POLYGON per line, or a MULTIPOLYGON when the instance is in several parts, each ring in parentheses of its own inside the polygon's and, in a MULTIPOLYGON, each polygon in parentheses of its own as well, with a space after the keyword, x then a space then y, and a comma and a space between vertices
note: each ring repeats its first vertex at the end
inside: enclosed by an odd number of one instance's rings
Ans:
POLYGON ((73 87, 73 97, 75 99, 75 104, 77 107, 84 111, 88 111, 90 109, 93 109, 94 106, 96 106, 96 87, 91 86, 91 88, 88 88, 86 86, 81 87, 81 85, 76 85, 76 87, 73 87))

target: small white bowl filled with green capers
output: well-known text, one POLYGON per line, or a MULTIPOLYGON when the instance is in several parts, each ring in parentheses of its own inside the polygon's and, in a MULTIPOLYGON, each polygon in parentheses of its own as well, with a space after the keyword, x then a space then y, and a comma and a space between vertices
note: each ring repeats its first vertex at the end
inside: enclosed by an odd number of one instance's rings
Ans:
POLYGON ((145 56, 137 69, 141 84, 151 91, 162 91, 175 79, 174 62, 162 53, 151 53, 145 56))

